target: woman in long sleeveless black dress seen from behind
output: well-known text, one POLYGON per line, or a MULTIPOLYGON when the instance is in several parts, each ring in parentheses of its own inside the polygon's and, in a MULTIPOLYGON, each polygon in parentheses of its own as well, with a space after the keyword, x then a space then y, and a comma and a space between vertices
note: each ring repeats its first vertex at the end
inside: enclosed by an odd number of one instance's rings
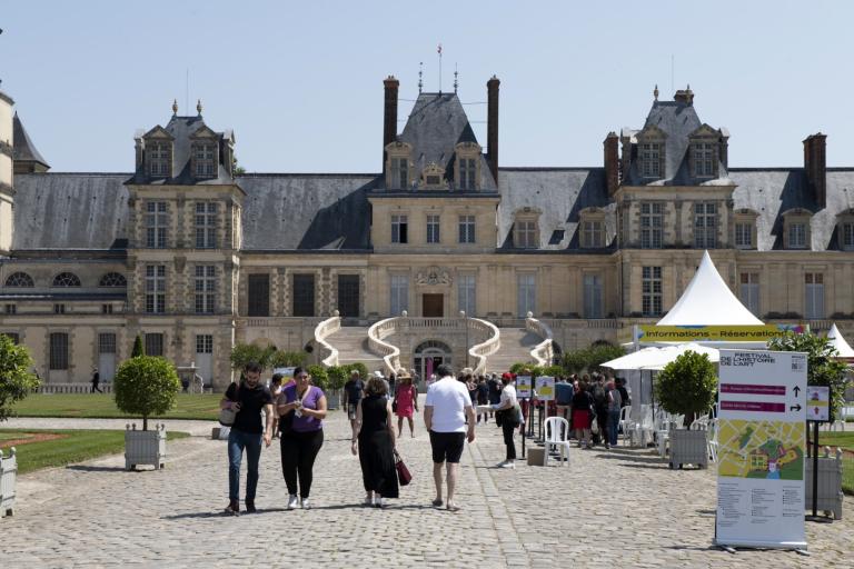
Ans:
POLYGON ((365 482, 365 505, 383 508, 387 498, 397 498, 395 427, 386 382, 370 378, 365 397, 356 408, 352 426, 352 453, 359 455, 365 482))

